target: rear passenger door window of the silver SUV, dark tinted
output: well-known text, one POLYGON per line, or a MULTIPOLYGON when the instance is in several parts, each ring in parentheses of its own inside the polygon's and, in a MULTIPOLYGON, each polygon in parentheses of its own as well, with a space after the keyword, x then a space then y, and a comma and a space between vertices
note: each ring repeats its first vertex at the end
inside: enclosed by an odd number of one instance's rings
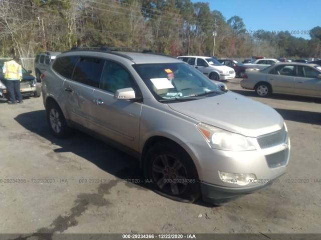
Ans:
POLYGON ((96 57, 79 57, 72 80, 98 87, 105 60, 96 57))

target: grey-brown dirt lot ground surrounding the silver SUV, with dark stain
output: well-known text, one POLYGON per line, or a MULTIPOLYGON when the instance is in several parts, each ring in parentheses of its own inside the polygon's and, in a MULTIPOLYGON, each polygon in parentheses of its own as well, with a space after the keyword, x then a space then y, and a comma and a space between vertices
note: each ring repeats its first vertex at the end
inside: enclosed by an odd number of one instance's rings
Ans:
POLYGON ((143 179, 138 162, 86 134, 55 139, 42 97, 0 100, 0 232, 321 233, 321 99, 258 98, 239 80, 229 89, 284 117, 291 158, 279 183, 220 207, 176 202, 123 180, 143 179))

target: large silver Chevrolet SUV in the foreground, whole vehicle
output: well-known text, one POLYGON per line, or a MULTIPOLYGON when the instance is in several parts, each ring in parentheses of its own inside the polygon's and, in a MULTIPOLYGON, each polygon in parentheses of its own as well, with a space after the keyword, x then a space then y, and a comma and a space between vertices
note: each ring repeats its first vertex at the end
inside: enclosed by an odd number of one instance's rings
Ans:
POLYGON ((285 173, 290 142, 271 107, 151 52, 70 50, 42 74, 49 128, 84 130, 135 156, 156 192, 216 205, 285 173))

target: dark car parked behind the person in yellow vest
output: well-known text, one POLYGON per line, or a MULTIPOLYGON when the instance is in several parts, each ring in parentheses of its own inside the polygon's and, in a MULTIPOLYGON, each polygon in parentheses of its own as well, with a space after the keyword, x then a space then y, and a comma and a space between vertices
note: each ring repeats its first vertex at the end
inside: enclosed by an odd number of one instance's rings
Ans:
MULTIPOLYGON (((0 59, 0 98, 7 98, 9 92, 7 91, 7 86, 5 84, 5 75, 3 74, 3 66, 5 61, 9 59, 0 59)), ((20 82, 20 91, 22 96, 35 96, 39 97, 41 95, 41 88, 37 86, 37 81, 33 75, 31 75, 32 70, 26 70, 22 67, 22 81, 20 82)))

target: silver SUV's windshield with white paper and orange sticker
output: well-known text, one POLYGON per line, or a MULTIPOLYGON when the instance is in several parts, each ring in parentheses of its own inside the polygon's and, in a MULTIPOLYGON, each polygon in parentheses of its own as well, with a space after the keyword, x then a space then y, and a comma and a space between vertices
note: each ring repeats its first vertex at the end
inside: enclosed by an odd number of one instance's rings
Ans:
POLYGON ((133 67, 159 101, 195 100, 224 93, 212 80, 185 62, 134 64, 133 67))

